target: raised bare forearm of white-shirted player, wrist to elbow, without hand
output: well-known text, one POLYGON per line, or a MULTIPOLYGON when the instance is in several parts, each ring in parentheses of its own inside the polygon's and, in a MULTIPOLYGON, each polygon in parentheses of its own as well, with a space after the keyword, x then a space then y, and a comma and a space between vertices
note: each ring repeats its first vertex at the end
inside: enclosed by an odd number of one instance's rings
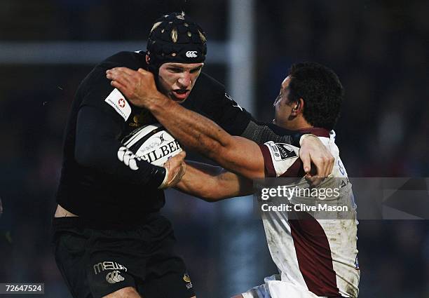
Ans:
POLYGON ((215 161, 220 150, 228 147, 231 142, 231 135, 216 123, 167 97, 160 97, 148 108, 185 147, 199 151, 215 161))

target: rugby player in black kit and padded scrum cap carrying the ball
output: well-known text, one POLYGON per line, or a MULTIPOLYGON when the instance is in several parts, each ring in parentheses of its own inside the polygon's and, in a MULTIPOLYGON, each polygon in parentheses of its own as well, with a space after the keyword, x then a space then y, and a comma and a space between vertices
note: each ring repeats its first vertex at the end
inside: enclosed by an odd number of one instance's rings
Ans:
MULTIPOLYGON (((259 144, 268 139, 299 144, 301 135, 277 135, 226 96, 221 83, 201 72, 205 54, 203 29, 183 13, 172 13, 154 23, 146 53, 117 53, 79 86, 64 135, 53 219, 55 259, 73 297, 195 296, 174 250, 172 226, 159 214, 162 189, 178 182, 182 162, 175 158, 158 167, 137 161, 135 170, 118 160, 122 138, 156 121, 111 86, 108 69, 149 70, 164 95, 231 135, 259 144)), ((301 152, 308 168, 311 157, 320 175, 332 170, 334 158, 317 138, 306 137, 301 152)))

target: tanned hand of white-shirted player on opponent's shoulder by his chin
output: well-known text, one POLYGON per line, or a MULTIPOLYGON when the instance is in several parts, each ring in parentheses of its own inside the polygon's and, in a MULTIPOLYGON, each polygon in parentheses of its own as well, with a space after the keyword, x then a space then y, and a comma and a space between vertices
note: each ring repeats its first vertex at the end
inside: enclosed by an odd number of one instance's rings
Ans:
POLYGON ((154 74, 141 68, 136 72, 127 67, 114 67, 107 70, 106 77, 111 80, 111 86, 118 88, 137 107, 149 107, 161 95, 154 74))

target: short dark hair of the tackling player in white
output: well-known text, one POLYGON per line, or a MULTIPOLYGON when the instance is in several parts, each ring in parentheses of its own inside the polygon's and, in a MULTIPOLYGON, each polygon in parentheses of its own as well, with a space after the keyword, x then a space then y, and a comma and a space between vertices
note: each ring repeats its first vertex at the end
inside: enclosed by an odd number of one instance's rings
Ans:
POLYGON ((344 90, 332 69, 316 62, 290 68, 289 100, 304 100, 303 115, 312 126, 332 130, 339 118, 344 90))

